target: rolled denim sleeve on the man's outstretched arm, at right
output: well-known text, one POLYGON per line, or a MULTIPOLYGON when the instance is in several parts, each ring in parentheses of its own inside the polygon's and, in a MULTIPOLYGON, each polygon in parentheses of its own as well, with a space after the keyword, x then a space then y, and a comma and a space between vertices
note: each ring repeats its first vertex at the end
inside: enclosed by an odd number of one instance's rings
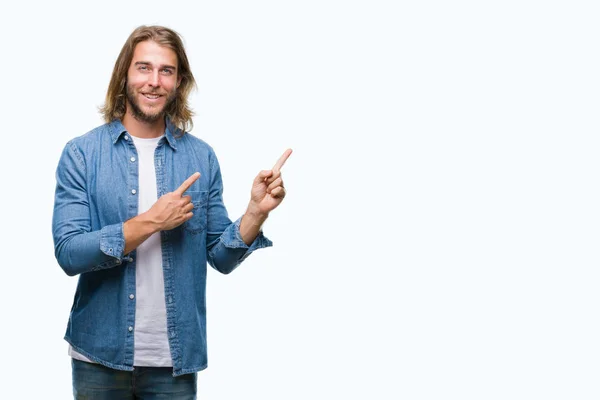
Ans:
POLYGON ((228 274, 255 250, 273 245, 262 230, 250 244, 242 240, 238 218, 231 222, 223 204, 223 179, 214 153, 210 158, 210 190, 208 193, 207 254, 208 263, 217 271, 228 274))

